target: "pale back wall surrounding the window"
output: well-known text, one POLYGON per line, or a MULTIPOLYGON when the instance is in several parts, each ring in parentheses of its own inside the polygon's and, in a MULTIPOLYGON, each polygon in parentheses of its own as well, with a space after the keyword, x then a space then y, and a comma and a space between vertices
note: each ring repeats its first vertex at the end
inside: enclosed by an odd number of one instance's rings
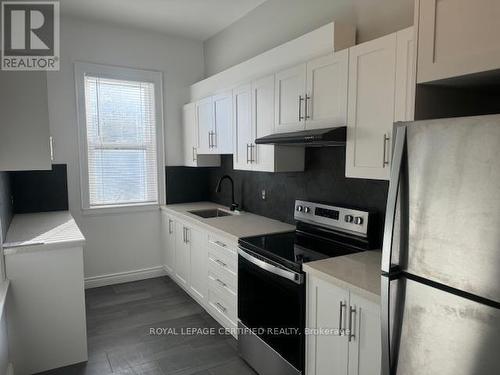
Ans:
POLYGON ((181 164, 181 108, 188 87, 203 76, 202 44, 130 28, 61 20, 61 70, 48 73, 50 130, 55 163, 68 165, 70 211, 82 229, 85 276, 162 264, 159 212, 83 216, 81 212, 74 62, 163 72, 166 163, 181 164))

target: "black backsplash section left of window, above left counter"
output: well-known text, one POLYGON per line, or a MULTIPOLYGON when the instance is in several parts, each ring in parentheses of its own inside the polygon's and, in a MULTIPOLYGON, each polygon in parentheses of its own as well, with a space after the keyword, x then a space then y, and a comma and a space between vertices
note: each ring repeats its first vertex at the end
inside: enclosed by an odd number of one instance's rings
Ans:
POLYGON ((68 210, 66 164, 53 164, 50 171, 10 172, 16 214, 68 210))

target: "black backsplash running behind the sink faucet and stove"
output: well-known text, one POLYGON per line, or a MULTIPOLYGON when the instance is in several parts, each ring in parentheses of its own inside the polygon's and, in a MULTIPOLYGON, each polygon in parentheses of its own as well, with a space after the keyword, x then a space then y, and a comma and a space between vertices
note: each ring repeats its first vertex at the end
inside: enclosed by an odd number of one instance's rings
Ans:
POLYGON ((345 147, 307 148, 305 157, 305 171, 293 173, 235 171, 231 155, 222 156, 219 168, 167 167, 167 202, 209 200, 229 206, 231 185, 224 182, 222 191, 215 192, 218 179, 228 174, 245 211, 293 224, 295 199, 371 209, 378 213, 382 234, 388 182, 346 178, 345 147))

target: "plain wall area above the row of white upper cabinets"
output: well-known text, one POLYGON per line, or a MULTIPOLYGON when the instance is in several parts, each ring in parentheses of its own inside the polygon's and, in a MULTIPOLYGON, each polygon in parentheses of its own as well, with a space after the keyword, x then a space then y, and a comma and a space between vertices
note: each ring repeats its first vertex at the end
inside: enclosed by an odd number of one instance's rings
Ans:
POLYGON ((211 76, 332 20, 364 42, 413 24, 414 0, 268 0, 204 43, 211 76))

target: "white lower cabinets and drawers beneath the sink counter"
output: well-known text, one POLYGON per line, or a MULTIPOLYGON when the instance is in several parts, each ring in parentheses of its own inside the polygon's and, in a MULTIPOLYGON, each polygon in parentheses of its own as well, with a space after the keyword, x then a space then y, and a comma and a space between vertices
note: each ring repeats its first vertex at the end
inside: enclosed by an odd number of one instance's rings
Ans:
POLYGON ((162 212, 165 270, 236 337, 237 244, 162 212))

